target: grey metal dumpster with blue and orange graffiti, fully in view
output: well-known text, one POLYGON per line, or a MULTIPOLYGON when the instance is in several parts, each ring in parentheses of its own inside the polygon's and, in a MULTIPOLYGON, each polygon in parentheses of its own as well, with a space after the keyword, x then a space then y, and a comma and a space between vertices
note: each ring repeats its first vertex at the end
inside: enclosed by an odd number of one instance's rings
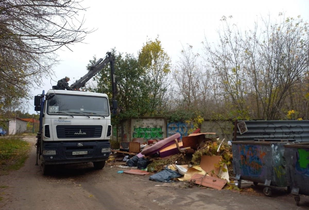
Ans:
POLYGON ((241 180, 252 181, 255 185, 265 184, 263 192, 271 196, 270 186, 287 187, 284 145, 288 142, 238 141, 232 142, 233 171, 241 187, 241 180))

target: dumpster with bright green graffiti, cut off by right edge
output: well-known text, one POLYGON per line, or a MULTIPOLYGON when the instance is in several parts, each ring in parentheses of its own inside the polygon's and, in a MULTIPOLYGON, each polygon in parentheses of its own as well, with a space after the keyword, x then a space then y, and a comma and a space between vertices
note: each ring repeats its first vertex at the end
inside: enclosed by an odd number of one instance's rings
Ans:
POLYGON ((309 195, 309 142, 284 145, 286 177, 291 181, 292 194, 299 205, 299 194, 309 195))

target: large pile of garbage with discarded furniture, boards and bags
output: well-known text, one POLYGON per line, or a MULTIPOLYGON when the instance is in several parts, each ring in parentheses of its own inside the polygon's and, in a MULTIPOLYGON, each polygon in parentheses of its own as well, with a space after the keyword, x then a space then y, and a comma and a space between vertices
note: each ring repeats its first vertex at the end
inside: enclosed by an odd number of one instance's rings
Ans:
POLYGON ((121 142, 108 163, 137 167, 127 171, 132 174, 153 173, 149 178, 153 181, 185 181, 222 189, 227 183, 230 186, 232 151, 225 139, 214 135, 197 130, 182 140, 177 133, 160 141, 121 142))

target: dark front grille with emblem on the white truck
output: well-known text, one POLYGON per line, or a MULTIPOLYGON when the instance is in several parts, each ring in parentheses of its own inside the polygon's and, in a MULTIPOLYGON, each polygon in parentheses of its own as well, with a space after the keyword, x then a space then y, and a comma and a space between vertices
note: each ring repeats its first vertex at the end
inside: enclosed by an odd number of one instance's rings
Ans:
POLYGON ((102 126, 56 126, 58 138, 99 138, 102 126))

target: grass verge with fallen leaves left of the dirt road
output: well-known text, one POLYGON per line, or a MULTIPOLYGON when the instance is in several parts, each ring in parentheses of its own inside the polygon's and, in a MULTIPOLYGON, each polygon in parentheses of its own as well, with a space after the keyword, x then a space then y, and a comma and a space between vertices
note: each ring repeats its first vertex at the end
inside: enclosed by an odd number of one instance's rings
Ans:
POLYGON ((18 170, 28 158, 30 143, 20 136, 10 136, 0 139, 0 175, 8 171, 18 170))

